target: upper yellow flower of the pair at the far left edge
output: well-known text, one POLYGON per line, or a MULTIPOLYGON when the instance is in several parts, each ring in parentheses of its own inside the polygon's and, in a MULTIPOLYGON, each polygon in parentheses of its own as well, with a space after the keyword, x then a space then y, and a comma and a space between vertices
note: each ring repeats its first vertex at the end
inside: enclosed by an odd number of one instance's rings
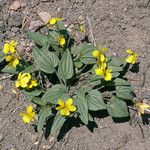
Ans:
POLYGON ((10 43, 5 43, 3 47, 3 52, 5 54, 14 53, 15 52, 15 46, 17 45, 17 42, 14 40, 10 41, 10 43))

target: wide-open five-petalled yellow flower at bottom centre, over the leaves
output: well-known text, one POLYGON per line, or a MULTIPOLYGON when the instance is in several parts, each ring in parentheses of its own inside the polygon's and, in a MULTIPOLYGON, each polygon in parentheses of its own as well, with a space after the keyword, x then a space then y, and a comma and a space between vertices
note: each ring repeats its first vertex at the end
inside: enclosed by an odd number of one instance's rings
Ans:
POLYGON ((70 112, 76 111, 76 107, 73 105, 72 98, 67 99, 66 103, 59 99, 58 105, 59 106, 56 107, 56 110, 59 110, 62 116, 69 116, 70 112))

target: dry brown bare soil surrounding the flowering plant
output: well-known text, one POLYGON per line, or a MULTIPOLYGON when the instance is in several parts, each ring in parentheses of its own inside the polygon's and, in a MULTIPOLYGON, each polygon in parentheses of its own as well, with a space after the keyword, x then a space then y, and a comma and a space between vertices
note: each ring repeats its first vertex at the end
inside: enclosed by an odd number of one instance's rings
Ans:
MULTIPOLYGON (((19 0, 18 0, 19 1, 19 0)), ((28 24, 22 29, 24 19, 40 20, 37 10, 42 9, 73 23, 79 16, 88 16, 96 43, 110 48, 110 53, 124 55, 130 48, 139 55, 139 72, 129 73, 135 94, 139 99, 150 100, 150 0, 20 0, 21 8, 9 10, 13 0, 0 0, 0 46, 6 39, 28 43, 28 24)), ((44 29, 43 29, 44 31, 44 29)), ((0 78, 6 75, 0 74, 0 78)), ((27 102, 23 95, 17 99, 12 93, 9 79, 0 85, 0 149, 35 149, 39 135, 34 126, 24 125, 19 117, 27 102)), ((128 122, 114 123, 110 117, 96 119, 97 127, 91 132, 86 126, 73 127, 62 140, 53 137, 41 142, 40 149, 53 150, 148 150, 150 126, 128 122)))

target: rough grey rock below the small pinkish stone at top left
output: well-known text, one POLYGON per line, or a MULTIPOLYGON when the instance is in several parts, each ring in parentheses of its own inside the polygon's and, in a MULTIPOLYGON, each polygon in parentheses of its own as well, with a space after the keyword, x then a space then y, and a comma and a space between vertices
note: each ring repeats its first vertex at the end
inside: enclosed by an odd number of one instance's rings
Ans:
POLYGON ((23 16, 20 12, 14 12, 8 19, 9 27, 20 27, 22 25, 23 16))

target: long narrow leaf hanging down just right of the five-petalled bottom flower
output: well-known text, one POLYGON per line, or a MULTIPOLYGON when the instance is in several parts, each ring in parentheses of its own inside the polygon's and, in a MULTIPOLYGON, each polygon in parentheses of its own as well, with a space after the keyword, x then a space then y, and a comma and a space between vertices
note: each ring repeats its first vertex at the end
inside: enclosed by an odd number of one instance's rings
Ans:
POLYGON ((81 90, 77 91, 76 104, 80 119, 87 125, 89 120, 88 102, 87 99, 85 99, 85 94, 82 94, 81 90))

